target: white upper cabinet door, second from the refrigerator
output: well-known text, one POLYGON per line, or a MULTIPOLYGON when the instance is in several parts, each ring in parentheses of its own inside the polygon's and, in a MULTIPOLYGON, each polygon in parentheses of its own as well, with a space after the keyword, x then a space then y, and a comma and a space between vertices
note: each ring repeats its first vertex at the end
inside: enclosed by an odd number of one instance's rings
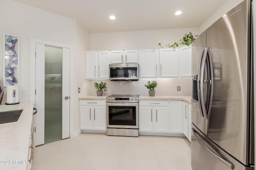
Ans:
POLYGON ((160 49, 160 77, 178 78, 178 50, 177 48, 160 49))

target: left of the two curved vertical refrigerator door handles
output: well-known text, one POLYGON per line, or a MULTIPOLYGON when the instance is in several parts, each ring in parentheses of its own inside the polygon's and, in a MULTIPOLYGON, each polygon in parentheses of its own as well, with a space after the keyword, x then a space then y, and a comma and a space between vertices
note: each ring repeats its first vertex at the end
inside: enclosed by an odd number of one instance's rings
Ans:
POLYGON ((204 117, 205 119, 207 119, 207 111, 206 111, 206 106, 205 106, 205 97, 204 97, 204 72, 205 72, 205 66, 206 66, 206 59, 207 59, 207 54, 208 54, 208 48, 206 47, 204 49, 204 53, 202 56, 202 60, 200 63, 200 71, 198 72, 198 102, 201 108, 201 112, 203 114, 202 117, 204 117))

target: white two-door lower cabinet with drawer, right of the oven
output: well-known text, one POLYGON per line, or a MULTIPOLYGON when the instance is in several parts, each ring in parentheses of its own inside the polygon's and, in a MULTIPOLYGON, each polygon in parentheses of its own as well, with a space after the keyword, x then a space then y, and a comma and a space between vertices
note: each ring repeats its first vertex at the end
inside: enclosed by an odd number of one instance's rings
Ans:
POLYGON ((140 132, 169 132, 168 101, 141 100, 139 109, 140 132))

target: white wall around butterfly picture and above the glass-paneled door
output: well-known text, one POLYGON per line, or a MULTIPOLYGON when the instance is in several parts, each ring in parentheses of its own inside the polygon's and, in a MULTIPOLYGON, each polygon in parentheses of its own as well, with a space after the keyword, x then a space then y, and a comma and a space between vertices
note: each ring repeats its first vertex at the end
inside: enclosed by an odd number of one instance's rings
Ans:
MULTIPOLYGON (((30 38, 75 46, 76 21, 10 0, 1 0, 0 6, 0 54, 3 54, 3 33, 20 36, 19 100, 27 102, 30 101, 30 38), (28 95, 22 96, 22 90, 27 90, 28 95)), ((0 64, 0 80, 3 80, 3 71, 3 65, 0 64)), ((6 93, 2 101, 4 103, 6 93)))

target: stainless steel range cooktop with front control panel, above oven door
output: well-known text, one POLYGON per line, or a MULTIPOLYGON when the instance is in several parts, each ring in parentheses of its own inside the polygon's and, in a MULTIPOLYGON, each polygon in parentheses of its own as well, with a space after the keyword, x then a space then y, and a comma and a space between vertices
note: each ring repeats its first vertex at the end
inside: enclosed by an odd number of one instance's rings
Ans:
POLYGON ((139 94, 113 94, 108 96, 107 102, 136 102, 138 103, 139 94))

